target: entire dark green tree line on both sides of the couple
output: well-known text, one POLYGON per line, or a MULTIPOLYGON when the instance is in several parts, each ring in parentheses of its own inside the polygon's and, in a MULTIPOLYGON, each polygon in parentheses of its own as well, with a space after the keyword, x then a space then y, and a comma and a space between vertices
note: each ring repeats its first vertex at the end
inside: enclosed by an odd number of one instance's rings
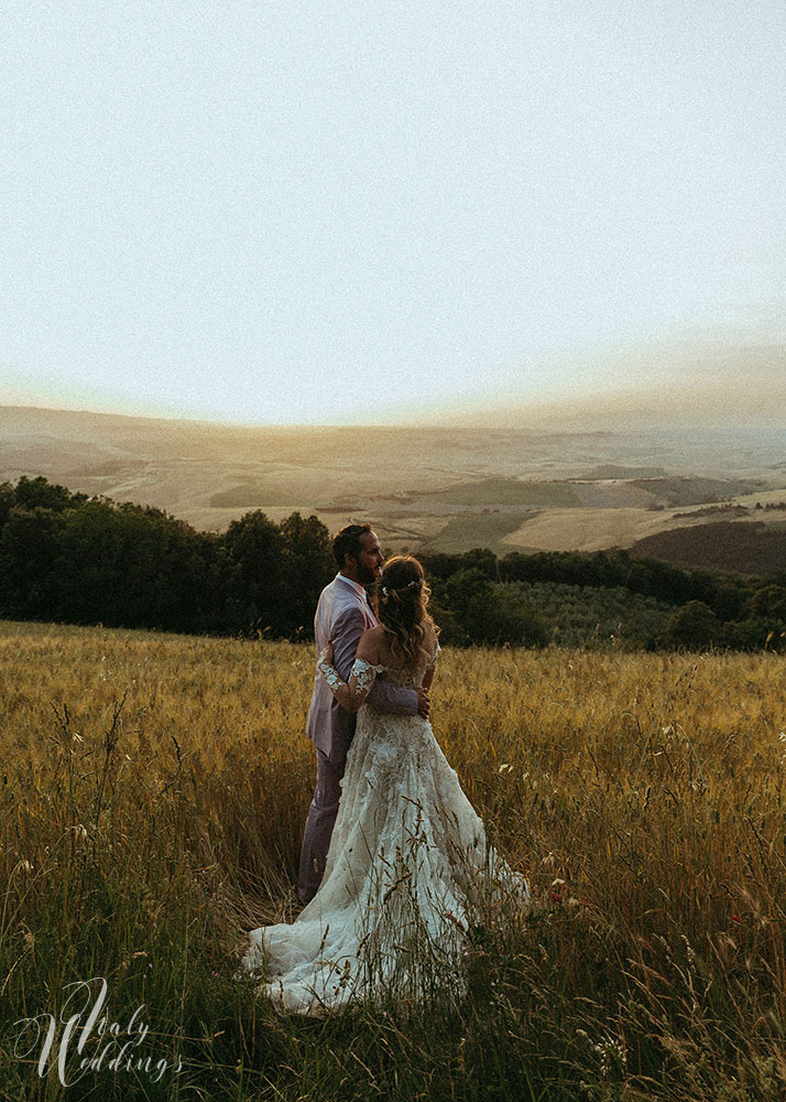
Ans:
MULTIPOLYGON (((627 591, 673 607, 651 648, 786 649, 786 574, 769 580, 684 570, 624 551, 421 555, 443 639, 544 646, 549 623, 516 583, 577 594, 627 591)), ((0 616, 210 635, 310 638, 336 572, 330 533, 293 512, 254 510, 201 532, 150 506, 72 493, 45 478, 0 485, 0 616)))

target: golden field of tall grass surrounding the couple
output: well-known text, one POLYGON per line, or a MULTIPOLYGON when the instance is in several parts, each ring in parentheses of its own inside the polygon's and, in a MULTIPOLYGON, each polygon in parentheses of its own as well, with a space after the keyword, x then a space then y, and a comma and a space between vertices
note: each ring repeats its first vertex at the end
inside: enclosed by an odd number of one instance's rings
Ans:
POLYGON ((232 976, 294 914, 310 650, 0 625, 0 1098, 783 1099, 785 670, 446 650, 435 733, 539 905, 472 931, 458 1007, 291 1020, 232 976), (40 1077, 20 1019, 91 977, 157 1080, 78 1079, 64 1023, 40 1077))

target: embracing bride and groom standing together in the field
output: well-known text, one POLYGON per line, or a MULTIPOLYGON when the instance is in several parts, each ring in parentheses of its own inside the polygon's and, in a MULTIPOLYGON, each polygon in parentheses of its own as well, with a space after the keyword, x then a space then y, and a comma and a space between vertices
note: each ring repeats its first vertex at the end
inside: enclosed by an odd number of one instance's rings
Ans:
POLYGON ((528 898, 487 844, 428 721, 439 646, 419 562, 383 566, 368 525, 341 529, 334 554, 339 572, 315 619, 306 906, 292 923, 252 930, 243 959, 279 1009, 309 1015, 460 993, 473 911, 490 896, 528 898))

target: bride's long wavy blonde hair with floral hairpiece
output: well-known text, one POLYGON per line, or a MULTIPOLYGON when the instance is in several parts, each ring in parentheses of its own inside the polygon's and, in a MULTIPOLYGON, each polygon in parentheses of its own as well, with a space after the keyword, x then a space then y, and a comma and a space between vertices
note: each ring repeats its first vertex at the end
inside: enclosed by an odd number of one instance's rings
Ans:
POLYGON ((423 566, 413 555, 397 554, 382 568, 376 587, 376 614, 390 639, 391 650, 401 655, 405 667, 417 666, 432 655, 424 646, 424 623, 439 628, 426 612, 432 591, 423 566))

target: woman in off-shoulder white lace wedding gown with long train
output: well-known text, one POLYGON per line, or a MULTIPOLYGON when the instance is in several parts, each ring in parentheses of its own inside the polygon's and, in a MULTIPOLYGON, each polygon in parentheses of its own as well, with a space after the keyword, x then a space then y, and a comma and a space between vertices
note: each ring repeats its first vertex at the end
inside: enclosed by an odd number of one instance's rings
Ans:
POLYGON ((428 586, 412 557, 379 584, 379 620, 349 682, 330 644, 318 666, 358 724, 319 890, 292 923, 252 930, 243 959, 279 1009, 319 1015, 352 1002, 460 994, 467 932, 484 904, 528 900, 526 883, 487 845, 483 823, 419 715, 364 703, 376 677, 428 689, 439 646, 428 586))

